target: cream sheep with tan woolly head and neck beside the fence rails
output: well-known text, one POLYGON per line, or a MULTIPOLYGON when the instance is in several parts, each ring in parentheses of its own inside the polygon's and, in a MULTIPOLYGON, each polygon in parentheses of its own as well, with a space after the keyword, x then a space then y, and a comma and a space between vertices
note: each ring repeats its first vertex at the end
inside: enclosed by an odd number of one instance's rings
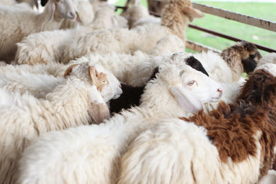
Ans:
POLYGON ((131 30, 97 30, 82 35, 73 39, 63 50, 61 63, 67 63, 90 52, 101 54, 110 51, 117 53, 133 53, 135 50, 149 52, 159 39, 168 34, 175 34, 185 43, 185 30, 189 17, 203 16, 202 12, 192 7, 190 1, 172 0, 161 16, 161 25, 148 23, 131 30))

